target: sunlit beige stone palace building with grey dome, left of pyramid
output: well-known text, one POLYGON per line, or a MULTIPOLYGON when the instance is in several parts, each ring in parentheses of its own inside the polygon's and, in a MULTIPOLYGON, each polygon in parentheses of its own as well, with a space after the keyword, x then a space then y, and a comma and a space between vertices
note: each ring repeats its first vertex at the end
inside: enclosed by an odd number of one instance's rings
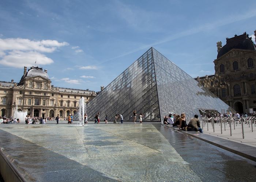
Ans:
POLYGON ((51 85, 47 70, 31 67, 24 73, 19 83, 0 81, 0 116, 14 115, 14 108, 27 111, 30 116, 38 117, 67 117, 75 114, 79 99, 84 97, 86 102, 96 96, 95 91, 73 88, 61 88, 51 85))

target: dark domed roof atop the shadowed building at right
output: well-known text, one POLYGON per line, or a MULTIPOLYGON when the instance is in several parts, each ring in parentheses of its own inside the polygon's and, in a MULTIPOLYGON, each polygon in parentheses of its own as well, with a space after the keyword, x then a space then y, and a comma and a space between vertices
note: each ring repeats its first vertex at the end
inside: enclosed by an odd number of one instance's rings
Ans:
POLYGON ((239 35, 239 36, 235 35, 230 39, 227 38, 227 43, 218 52, 217 59, 232 49, 243 49, 243 50, 253 50, 253 51, 256 50, 252 40, 249 38, 248 34, 246 34, 245 32, 242 35, 239 35))

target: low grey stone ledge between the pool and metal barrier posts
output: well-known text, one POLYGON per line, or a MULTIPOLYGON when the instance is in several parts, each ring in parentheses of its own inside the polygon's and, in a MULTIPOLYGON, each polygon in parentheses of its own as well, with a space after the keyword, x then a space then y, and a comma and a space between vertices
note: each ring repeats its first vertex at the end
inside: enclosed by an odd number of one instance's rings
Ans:
MULTIPOLYGON (((159 124, 162 124, 163 126, 167 126, 173 130, 180 131, 178 130, 178 128, 174 128, 174 127, 165 125, 163 123, 159 123, 159 124)), ((256 162, 256 147, 202 134, 196 131, 180 131, 180 132, 256 162)))

